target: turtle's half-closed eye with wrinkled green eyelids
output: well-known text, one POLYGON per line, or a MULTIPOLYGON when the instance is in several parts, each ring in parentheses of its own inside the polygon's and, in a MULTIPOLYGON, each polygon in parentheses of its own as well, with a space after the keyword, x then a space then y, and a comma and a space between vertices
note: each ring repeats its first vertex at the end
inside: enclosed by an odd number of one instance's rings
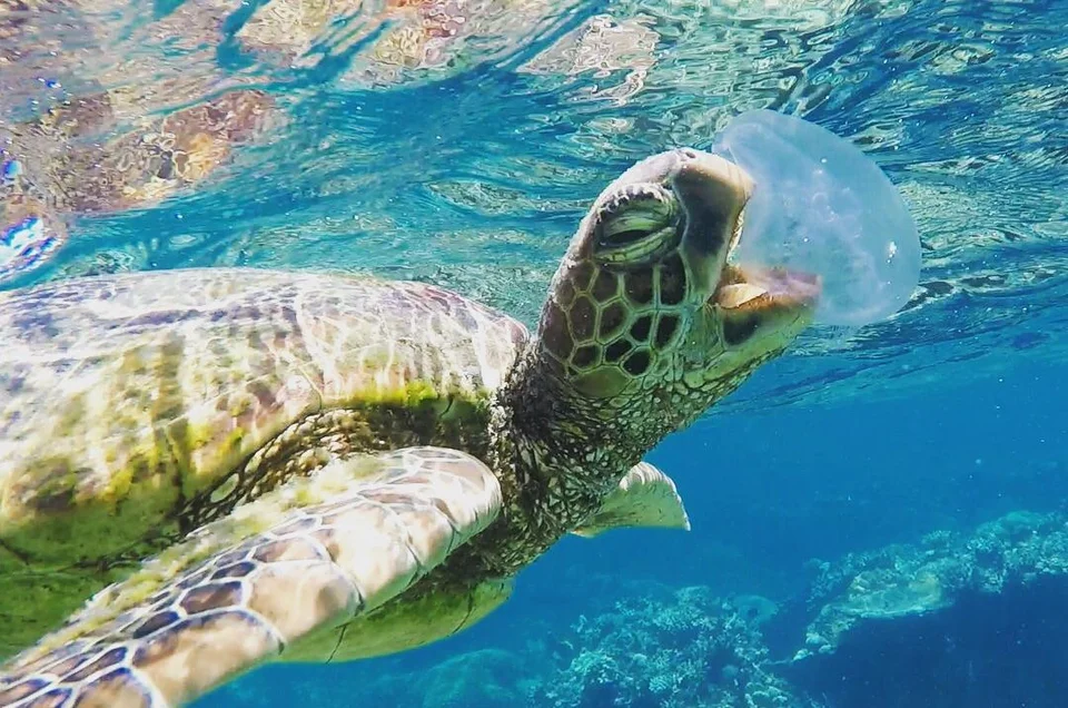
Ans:
POLYGON ((639 185, 613 196, 597 215, 596 254, 609 263, 644 262, 679 237, 674 196, 639 185))

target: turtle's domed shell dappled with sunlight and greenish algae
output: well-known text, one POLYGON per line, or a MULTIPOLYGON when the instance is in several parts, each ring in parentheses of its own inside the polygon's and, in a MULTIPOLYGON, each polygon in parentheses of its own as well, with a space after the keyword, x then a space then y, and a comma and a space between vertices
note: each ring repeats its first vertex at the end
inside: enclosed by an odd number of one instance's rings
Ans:
POLYGON ((332 454, 477 448, 526 338, 431 285, 312 273, 0 293, 0 573, 135 560, 332 454))

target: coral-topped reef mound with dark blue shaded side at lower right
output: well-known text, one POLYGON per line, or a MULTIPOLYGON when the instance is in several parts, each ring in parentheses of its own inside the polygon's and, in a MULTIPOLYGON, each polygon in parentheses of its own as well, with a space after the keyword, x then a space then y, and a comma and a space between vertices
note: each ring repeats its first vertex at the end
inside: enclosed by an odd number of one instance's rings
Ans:
POLYGON ((1068 515, 1013 512, 822 563, 765 629, 815 705, 1068 705, 1068 515))

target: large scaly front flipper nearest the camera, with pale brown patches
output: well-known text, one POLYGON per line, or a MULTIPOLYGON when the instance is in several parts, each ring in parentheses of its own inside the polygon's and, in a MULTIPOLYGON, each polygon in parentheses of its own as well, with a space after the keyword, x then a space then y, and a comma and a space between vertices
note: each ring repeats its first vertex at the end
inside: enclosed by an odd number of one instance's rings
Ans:
POLYGON ((380 607, 500 508, 496 478, 458 451, 330 463, 100 592, 4 667, 0 705, 182 705, 380 607))

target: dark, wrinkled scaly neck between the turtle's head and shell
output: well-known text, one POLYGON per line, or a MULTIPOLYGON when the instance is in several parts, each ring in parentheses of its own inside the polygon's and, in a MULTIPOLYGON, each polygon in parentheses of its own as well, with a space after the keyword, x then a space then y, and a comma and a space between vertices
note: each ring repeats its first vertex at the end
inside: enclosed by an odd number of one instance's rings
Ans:
POLYGON ((662 436, 633 434, 626 411, 578 394, 536 347, 493 404, 490 462, 504 509, 473 542, 491 576, 516 572, 581 524, 662 436))

